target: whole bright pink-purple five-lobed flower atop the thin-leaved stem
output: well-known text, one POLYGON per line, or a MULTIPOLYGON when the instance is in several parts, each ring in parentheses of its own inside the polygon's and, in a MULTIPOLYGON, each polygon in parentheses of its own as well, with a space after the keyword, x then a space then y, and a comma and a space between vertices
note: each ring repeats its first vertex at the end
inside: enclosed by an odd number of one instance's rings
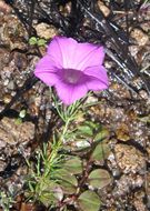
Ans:
POLYGON ((46 84, 54 86, 59 98, 68 105, 84 97, 89 90, 108 88, 103 59, 101 46, 54 37, 47 54, 38 62, 34 74, 46 84))

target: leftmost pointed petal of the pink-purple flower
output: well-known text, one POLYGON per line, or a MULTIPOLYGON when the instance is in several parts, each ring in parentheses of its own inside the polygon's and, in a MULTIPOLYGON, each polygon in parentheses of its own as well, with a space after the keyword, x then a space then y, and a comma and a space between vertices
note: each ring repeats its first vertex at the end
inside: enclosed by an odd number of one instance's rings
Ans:
POLYGON ((34 76, 48 86, 53 86, 59 81, 60 69, 49 56, 44 56, 36 66, 34 76))

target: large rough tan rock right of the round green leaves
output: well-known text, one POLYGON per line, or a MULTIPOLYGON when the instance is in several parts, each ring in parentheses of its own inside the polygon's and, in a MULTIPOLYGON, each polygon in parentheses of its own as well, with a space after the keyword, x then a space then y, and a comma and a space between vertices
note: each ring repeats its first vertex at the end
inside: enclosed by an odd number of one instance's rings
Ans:
POLYGON ((116 160, 123 173, 141 172, 146 168, 142 153, 132 145, 117 144, 114 147, 116 160))

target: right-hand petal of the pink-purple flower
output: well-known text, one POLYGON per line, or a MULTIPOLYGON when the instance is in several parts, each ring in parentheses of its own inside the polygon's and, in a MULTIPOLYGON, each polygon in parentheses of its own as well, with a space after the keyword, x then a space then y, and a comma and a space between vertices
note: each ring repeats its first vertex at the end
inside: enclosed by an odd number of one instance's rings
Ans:
POLYGON ((102 87, 108 88, 109 80, 108 80, 107 70, 104 67, 102 67, 102 66, 89 67, 83 71, 83 73, 86 76, 88 76, 90 79, 88 82, 89 83, 88 87, 90 87, 91 81, 94 80, 94 81, 97 81, 97 83, 98 83, 98 81, 99 81, 99 83, 101 83, 101 88, 102 87))

